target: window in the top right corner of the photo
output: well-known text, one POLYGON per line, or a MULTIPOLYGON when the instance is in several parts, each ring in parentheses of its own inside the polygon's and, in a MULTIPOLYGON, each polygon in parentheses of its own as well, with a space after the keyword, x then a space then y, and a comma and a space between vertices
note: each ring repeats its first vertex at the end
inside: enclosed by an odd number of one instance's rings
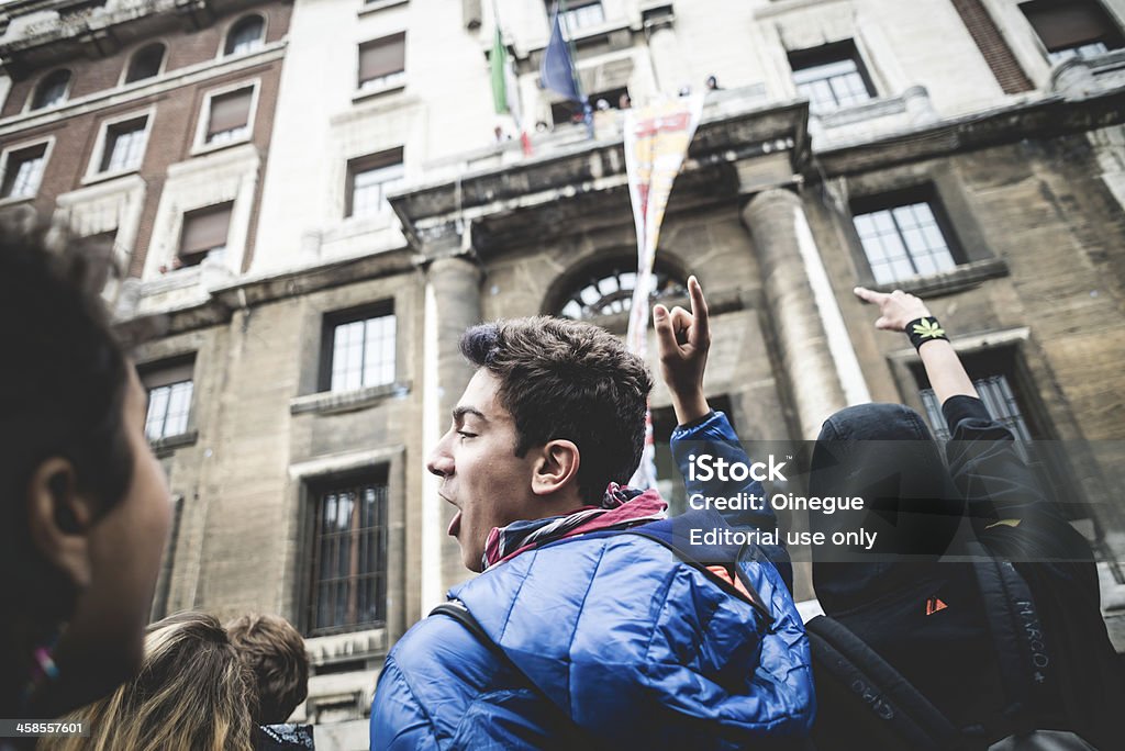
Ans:
POLYGON ((1092 57, 1123 46, 1120 29, 1096 0, 1033 0, 1019 9, 1047 48, 1052 63, 1092 57))

